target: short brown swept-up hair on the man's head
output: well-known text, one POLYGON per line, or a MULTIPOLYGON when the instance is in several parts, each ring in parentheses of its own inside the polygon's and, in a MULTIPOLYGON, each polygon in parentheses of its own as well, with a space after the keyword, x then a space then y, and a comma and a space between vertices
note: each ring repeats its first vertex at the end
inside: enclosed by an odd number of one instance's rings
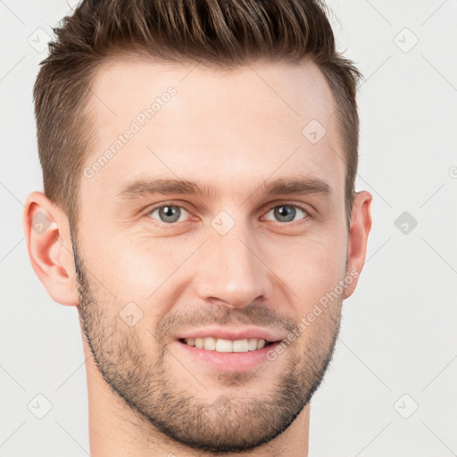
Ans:
POLYGON ((337 53, 327 12, 320 0, 84 0, 54 28, 55 40, 49 43, 34 86, 46 196, 76 225, 79 181, 90 142, 85 107, 96 70, 112 56, 201 62, 214 69, 256 60, 309 59, 324 74, 337 102, 349 223, 358 162, 356 87, 361 73, 337 53))

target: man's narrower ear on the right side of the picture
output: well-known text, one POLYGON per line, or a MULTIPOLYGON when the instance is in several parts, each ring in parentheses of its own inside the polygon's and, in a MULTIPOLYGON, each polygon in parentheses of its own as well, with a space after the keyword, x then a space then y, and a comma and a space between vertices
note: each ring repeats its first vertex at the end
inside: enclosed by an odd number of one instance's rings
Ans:
POLYGON ((365 262, 368 236, 371 229, 371 200, 372 195, 366 191, 357 192, 353 197, 346 269, 346 275, 351 276, 353 281, 345 288, 345 298, 353 295, 365 262))

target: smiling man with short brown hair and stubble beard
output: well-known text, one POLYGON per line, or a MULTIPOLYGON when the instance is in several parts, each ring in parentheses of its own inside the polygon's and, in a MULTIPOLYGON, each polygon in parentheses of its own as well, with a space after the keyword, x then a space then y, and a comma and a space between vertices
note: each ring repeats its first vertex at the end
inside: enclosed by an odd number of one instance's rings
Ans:
POLYGON ((371 227, 324 5, 91 0, 55 32, 24 223, 79 310, 91 455, 306 456, 371 227))

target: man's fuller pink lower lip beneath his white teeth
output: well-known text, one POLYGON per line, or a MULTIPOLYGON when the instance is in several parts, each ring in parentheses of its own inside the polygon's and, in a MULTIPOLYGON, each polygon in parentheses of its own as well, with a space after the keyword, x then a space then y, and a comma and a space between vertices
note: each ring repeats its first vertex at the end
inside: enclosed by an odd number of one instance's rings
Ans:
POLYGON ((220 371, 253 370, 261 363, 269 361, 267 353, 271 350, 274 351, 279 343, 280 342, 277 341, 272 345, 263 346, 262 349, 248 351, 247 353, 218 353, 217 351, 200 349, 198 347, 176 341, 178 350, 184 353, 185 356, 192 357, 194 360, 203 362, 210 368, 220 371))

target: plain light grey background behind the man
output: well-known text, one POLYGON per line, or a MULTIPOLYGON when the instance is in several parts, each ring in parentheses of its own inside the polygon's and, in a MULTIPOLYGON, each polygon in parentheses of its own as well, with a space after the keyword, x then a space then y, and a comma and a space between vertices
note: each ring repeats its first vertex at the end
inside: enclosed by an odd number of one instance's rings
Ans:
MULTIPOLYGON (((328 4, 338 48, 366 78, 357 189, 374 196, 373 228, 359 287, 344 304, 335 359, 312 399, 310 456, 451 456, 457 453, 457 2, 328 4), (410 220, 397 228, 403 212, 410 220)), ((42 190, 32 86, 46 33, 70 9, 63 0, 0 1, 4 457, 84 456, 89 449, 78 315, 47 295, 21 227, 26 195, 42 190), (38 394, 53 406, 43 419, 28 409, 32 402, 39 404, 33 411, 45 411, 38 394)))

